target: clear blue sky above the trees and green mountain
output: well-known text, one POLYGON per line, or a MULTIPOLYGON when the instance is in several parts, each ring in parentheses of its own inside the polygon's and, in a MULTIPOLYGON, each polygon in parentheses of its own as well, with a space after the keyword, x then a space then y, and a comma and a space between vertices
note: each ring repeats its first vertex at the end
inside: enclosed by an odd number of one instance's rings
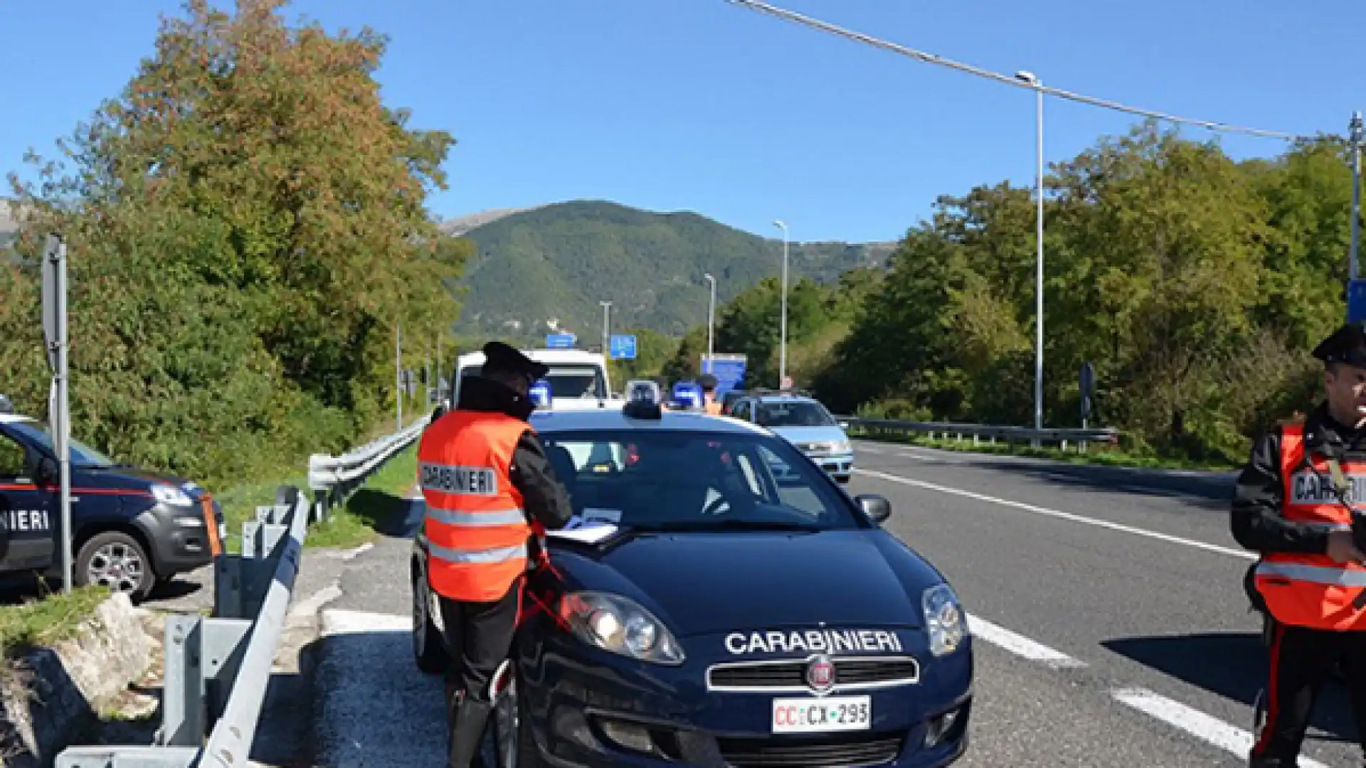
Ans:
MULTIPOLYGON (((1366 109, 1359 0, 775 4, 1176 115, 1314 134, 1344 133, 1366 109)), ((22 169, 27 148, 52 153, 150 53, 157 14, 179 11, 165 0, 7 5, 3 171, 22 169)), ((387 101, 459 141, 451 189, 430 201, 447 217, 597 198, 764 235, 783 219, 796 241, 882 241, 938 194, 1033 180, 1033 93, 724 0, 305 0, 285 14, 391 36, 387 101)), ((1138 120, 1052 98, 1045 119, 1050 160, 1138 120)), ((1236 157, 1284 148, 1223 141, 1236 157)))

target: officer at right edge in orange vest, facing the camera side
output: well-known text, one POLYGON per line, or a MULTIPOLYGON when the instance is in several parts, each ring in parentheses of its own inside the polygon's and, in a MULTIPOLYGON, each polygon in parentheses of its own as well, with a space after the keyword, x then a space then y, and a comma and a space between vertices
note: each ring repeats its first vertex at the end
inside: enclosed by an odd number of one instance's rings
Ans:
POLYGON ((1266 720, 1253 768, 1296 765, 1322 683, 1344 663, 1366 756, 1366 327, 1314 348, 1326 399, 1262 435, 1238 478, 1233 538, 1261 553, 1255 597, 1273 618, 1266 720), (1355 519, 1355 532, 1354 532, 1355 519))

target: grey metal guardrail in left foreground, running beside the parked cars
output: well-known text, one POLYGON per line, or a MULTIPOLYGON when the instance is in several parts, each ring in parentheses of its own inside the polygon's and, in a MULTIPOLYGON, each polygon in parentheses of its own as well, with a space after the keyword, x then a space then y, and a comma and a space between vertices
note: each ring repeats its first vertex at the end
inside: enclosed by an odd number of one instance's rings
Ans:
MULTIPOLYGON (((388 458, 413 443, 430 417, 340 456, 309 459, 318 519, 388 458)), ((53 768, 238 768, 251 743, 280 648, 310 523, 309 496, 292 485, 242 525, 242 553, 214 559, 213 615, 172 614, 163 646, 161 727, 146 746, 70 746, 53 768), (212 730, 209 730, 212 724, 212 730), (208 735, 208 739, 205 738, 208 735)))

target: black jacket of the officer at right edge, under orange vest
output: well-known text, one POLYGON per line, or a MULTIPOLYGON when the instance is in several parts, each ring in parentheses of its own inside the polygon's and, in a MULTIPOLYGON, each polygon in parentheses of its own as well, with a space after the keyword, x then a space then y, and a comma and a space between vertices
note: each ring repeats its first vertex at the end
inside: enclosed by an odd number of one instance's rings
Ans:
MULTIPOLYGON (((1233 538, 1255 552, 1321 555, 1328 532, 1287 521, 1281 515, 1285 485, 1280 469, 1281 428, 1276 426, 1253 444, 1251 456, 1238 476, 1231 527, 1233 538)), ((1305 450, 1337 461, 1366 462, 1366 429, 1352 429, 1328 415, 1321 404, 1305 420, 1305 450)))

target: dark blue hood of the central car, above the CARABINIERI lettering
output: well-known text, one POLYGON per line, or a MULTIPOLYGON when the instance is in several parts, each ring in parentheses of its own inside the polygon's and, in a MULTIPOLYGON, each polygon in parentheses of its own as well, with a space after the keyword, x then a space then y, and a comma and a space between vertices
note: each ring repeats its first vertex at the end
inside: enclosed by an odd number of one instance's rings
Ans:
POLYGON ((831 626, 919 627, 944 579, 881 529, 638 536, 605 552, 556 545, 571 589, 624 594, 678 637, 831 626))

